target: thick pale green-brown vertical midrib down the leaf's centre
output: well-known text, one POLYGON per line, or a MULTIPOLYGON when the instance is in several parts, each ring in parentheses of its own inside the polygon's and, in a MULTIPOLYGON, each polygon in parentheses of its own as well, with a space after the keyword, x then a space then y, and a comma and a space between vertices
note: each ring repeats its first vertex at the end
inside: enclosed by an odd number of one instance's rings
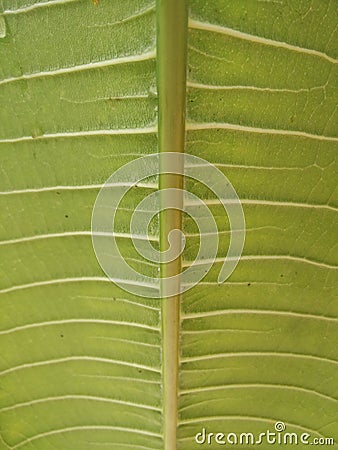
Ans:
MULTIPOLYGON (((185 101, 186 101, 186 54, 188 30, 188 2, 185 0, 157 0, 157 79, 159 99, 158 150, 160 153, 160 190, 182 189, 182 176, 177 175, 177 161, 161 158, 163 152, 184 152, 185 101), (168 167, 168 164, 171 167, 168 167), (174 169, 174 170, 172 170, 174 169), (173 173, 165 173, 170 170, 173 173), (163 174, 164 172, 164 174, 163 174)), ((183 165, 183 160, 182 160, 183 165)), ((183 167, 179 167, 183 170, 183 167)), ((183 204, 178 198, 179 204, 183 204)), ((166 207, 166 196, 161 194, 161 208, 166 207)), ((181 201, 182 200, 182 201, 181 201)), ((172 229, 182 229, 182 213, 166 210, 160 214, 160 250, 167 249, 167 236, 172 229)), ((174 244, 180 249, 181 242, 174 244)), ((165 280, 181 273, 181 258, 161 265, 162 295, 162 400, 163 400, 163 450, 177 448, 178 424, 178 368, 180 295, 179 281, 165 280), (175 288, 178 288, 175 290, 175 288)), ((177 277, 176 277, 177 279, 177 277)))

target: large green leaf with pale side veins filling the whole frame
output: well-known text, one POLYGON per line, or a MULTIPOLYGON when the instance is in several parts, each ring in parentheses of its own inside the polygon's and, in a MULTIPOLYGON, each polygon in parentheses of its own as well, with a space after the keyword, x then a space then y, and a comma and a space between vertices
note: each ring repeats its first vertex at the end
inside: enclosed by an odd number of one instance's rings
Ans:
MULTIPOLYGON (((0 450, 190 450, 203 429, 216 449, 217 433, 258 437, 276 422, 338 440, 337 4, 190 0, 189 20, 187 8, 0 4, 0 450), (228 177, 246 243, 218 284, 229 223, 186 180, 219 251, 201 283, 156 300, 105 276, 91 215, 116 169, 166 151, 228 177)), ((134 249, 131 215, 158 187, 182 186, 145 180, 118 211, 121 253, 144 275, 159 266, 134 249)), ((174 227, 184 257, 162 276, 199 246, 192 220, 168 210, 155 248, 174 227)))

